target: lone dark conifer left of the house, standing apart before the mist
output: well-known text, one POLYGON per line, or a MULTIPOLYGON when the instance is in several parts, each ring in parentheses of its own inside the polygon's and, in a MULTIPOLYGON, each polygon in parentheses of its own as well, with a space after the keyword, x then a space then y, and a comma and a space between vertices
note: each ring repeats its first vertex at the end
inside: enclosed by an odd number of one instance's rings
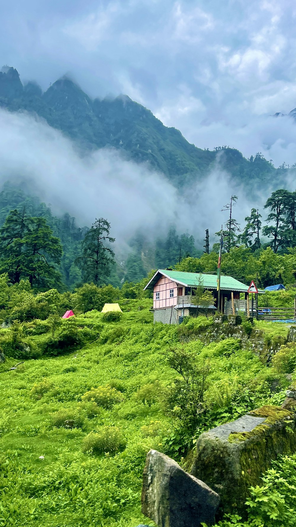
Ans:
POLYGON ((82 256, 75 263, 81 268, 83 280, 102 284, 110 274, 110 265, 114 264, 114 252, 105 243, 113 243, 109 236, 111 225, 104 218, 96 219, 82 241, 82 256))

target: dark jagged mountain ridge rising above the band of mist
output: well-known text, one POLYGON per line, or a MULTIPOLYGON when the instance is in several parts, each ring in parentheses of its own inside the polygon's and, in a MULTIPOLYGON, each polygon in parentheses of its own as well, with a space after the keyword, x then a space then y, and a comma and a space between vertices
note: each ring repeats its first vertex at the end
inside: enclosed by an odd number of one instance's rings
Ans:
POLYGON ((23 85, 18 72, 4 66, 0 72, 0 107, 41 116, 80 147, 119 149, 127 159, 145 162, 162 172, 179 188, 205 177, 217 159, 233 178, 246 182, 270 181, 276 173, 261 154, 247 160, 226 146, 202 150, 127 95, 92 100, 67 77, 43 93, 34 82, 23 85))

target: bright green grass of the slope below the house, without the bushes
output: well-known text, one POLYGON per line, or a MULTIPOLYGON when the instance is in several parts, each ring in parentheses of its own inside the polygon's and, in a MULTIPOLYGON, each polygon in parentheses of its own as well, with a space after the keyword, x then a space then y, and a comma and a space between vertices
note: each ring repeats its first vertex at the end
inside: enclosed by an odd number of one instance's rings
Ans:
MULTIPOLYGON (((201 362, 210 361, 205 394, 209 418, 201 424, 203 429, 270 399, 273 368, 241 349, 239 340, 204 346, 194 336, 181 343, 180 328, 152 324, 151 300, 126 300, 121 306, 124 312, 117 323, 103 325, 95 311, 77 317, 79 325, 103 327, 93 344, 75 353, 26 360, 16 370, 9 368, 19 360, 7 359, 0 365, 0 525, 149 523, 140 506, 145 456, 150 448, 174 455, 165 438, 180 430, 180 422, 166 415, 161 395, 176 377, 167 365, 172 346, 195 351, 201 362), (98 407, 91 418, 89 405, 95 403, 83 400, 83 395, 107 385, 122 397, 109 409, 98 407), (221 407, 225 386, 230 402, 221 407), (74 413, 82 427, 54 427, 56 412, 69 418, 74 413), (106 427, 120 435, 115 451, 84 453, 84 438, 91 432, 102 435, 106 427)), ((175 455, 180 460, 177 447, 175 455)))

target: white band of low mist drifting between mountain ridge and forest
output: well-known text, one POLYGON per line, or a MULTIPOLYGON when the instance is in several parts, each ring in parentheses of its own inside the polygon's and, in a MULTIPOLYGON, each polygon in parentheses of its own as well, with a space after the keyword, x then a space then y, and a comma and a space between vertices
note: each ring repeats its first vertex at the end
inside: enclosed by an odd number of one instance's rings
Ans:
POLYGON ((254 196, 249 199, 243 185, 221 170, 218 156, 208 176, 181 193, 162 174, 127 161, 116 150, 82 156, 70 139, 44 121, 0 110, 0 183, 7 180, 28 180, 54 213, 67 211, 80 225, 90 226, 96 217, 108 219, 121 246, 139 229, 154 238, 165 235, 172 223, 203 245, 204 230, 210 229, 213 241, 226 221, 221 209, 231 194, 238 196, 234 216, 243 222, 274 190, 271 185, 256 192, 256 202, 254 196))

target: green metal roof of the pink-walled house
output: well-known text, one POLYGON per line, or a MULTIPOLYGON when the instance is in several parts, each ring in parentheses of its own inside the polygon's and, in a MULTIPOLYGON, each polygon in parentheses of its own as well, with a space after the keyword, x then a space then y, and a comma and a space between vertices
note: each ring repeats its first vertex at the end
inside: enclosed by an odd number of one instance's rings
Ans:
MULTIPOLYGON (((177 284, 188 287, 196 287, 199 285, 201 278, 204 289, 216 289, 217 288, 217 275, 206 275, 205 273, 199 272, 183 272, 183 271, 168 271, 167 269, 159 269, 155 275, 151 278, 150 282, 146 285, 145 289, 153 289, 157 280, 160 279, 160 275, 170 278, 177 284)), ((221 276, 220 288, 229 291, 240 291, 246 292, 249 286, 246 286, 239 280, 232 278, 232 276, 221 276)))

